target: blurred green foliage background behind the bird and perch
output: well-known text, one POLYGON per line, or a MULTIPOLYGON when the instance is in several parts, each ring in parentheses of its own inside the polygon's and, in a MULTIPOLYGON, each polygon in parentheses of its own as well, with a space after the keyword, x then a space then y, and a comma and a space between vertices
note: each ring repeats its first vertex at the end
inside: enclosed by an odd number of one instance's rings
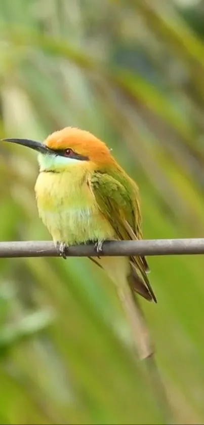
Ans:
MULTIPOLYGON (((203 1, 1 0, 1 137, 90 130, 138 182, 145 238, 202 237, 203 19, 203 1)), ((50 239, 35 153, 0 153, 0 240, 50 239)), ((140 303, 174 421, 203 423, 203 257, 149 264, 158 304, 140 303)), ((0 268, 0 423, 164 423, 94 264, 22 258, 0 268)))

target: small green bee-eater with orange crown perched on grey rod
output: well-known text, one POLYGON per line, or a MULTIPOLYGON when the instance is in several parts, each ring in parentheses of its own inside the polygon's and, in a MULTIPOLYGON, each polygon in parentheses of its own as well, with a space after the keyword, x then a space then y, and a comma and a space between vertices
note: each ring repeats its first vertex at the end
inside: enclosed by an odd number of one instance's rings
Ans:
POLYGON ((90 260, 104 269, 123 301, 124 288, 129 288, 129 295, 138 293, 156 302, 144 256, 101 255, 104 241, 143 238, 138 185, 106 143, 75 127, 57 130, 43 142, 2 140, 38 152, 39 174, 34 187, 38 213, 60 255, 66 258, 71 245, 92 242, 97 255, 90 260))

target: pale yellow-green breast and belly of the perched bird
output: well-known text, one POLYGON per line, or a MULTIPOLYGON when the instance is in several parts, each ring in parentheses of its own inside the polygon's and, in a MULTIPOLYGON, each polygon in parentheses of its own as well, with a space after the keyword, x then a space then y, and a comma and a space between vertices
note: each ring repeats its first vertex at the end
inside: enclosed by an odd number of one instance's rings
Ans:
POLYGON ((68 245, 113 239, 114 231, 101 214, 87 184, 87 172, 41 172, 35 184, 39 216, 55 242, 68 245))

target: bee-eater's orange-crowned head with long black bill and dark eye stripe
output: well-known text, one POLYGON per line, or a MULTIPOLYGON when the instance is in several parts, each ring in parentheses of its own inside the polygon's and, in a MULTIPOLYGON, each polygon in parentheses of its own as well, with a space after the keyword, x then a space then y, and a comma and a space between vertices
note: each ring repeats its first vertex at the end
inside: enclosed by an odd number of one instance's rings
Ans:
POLYGON ((87 163, 93 168, 111 165, 114 160, 104 142, 85 130, 66 127, 48 136, 44 143, 29 139, 3 139, 39 152, 40 171, 66 171, 70 166, 87 163))

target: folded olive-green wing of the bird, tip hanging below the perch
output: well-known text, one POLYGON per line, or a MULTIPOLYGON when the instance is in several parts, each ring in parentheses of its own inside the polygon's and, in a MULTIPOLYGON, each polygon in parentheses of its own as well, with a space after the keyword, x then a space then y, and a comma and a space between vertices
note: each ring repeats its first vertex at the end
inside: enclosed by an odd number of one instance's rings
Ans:
MULTIPOLYGON (((100 172, 92 174, 89 184, 101 212, 114 228, 116 237, 119 240, 142 239, 136 184, 126 175, 120 174, 119 179, 117 175, 116 179, 100 172)), ((131 256, 130 264, 129 284, 140 295, 156 302, 147 277, 148 264, 145 257, 131 256)))

